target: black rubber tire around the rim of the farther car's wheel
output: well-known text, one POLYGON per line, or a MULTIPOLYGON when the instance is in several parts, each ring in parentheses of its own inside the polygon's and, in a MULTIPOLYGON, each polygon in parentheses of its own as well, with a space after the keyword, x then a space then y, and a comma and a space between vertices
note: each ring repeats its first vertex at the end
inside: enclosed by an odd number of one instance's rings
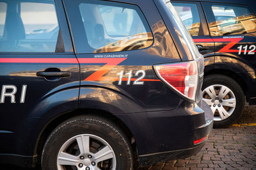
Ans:
MULTIPOLYGON (((236 123, 236 121, 239 120, 239 118, 241 118, 243 114, 244 102, 245 102, 244 92, 241 86, 239 86, 239 84, 236 81, 234 81, 234 79, 227 77, 226 75, 220 75, 220 74, 207 75, 204 78, 202 91, 216 84, 226 86, 232 91, 232 93, 236 97, 236 107, 234 107, 234 111, 232 112, 232 114, 230 114, 230 116, 224 120, 220 120, 220 121, 214 120, 214 125, 213 125, 214 128, 227 128, 233 123, 236 123)), ((203 93, 203 98, 205 98, 204 95, 205 93, 203 93)))

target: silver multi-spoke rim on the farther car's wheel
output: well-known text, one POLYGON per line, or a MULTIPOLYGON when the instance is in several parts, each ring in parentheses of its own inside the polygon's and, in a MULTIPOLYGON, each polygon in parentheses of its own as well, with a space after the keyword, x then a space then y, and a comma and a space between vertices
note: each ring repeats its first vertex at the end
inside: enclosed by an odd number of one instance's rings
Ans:
POLYGON ((227 86, 214 84, 205 88, 203 100, 211 107, 214 121, 223 121, 229 118, 236 109, 236 97, 227 86))

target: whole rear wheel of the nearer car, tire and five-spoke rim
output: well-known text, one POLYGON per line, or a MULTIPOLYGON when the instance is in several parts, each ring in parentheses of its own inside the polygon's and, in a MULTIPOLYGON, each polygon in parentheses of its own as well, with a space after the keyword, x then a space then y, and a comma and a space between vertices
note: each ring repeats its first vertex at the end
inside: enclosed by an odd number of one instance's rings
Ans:
POLYGON ((80 116, 64 121, 49 135, 42 169, 132 169, 131 144, 111 121, 80 116))

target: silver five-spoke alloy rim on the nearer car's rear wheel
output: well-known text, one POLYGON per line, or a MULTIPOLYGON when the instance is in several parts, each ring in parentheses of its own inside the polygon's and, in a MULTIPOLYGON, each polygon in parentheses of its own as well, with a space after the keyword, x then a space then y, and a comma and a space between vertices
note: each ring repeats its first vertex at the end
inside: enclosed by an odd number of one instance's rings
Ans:
POLYGON ((58 170, 116 169, 116 157, 111 146, 92 134, 76 135, 66 141, 57 156, 58 170))

